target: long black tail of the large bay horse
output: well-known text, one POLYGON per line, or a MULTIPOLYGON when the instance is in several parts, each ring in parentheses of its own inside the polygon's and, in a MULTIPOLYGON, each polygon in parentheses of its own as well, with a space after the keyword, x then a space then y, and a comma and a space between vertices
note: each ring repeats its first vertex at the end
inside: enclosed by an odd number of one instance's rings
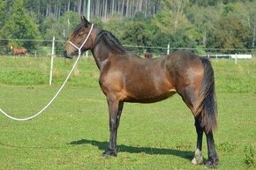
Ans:
POLYGON ((215 97, 215 75, 209 60, 201 58, 204 78, 200 87, 199 99, 194 107, 194 115, 199 116, 201 127, 208 133, 217 127, 217 101, 215 97))

